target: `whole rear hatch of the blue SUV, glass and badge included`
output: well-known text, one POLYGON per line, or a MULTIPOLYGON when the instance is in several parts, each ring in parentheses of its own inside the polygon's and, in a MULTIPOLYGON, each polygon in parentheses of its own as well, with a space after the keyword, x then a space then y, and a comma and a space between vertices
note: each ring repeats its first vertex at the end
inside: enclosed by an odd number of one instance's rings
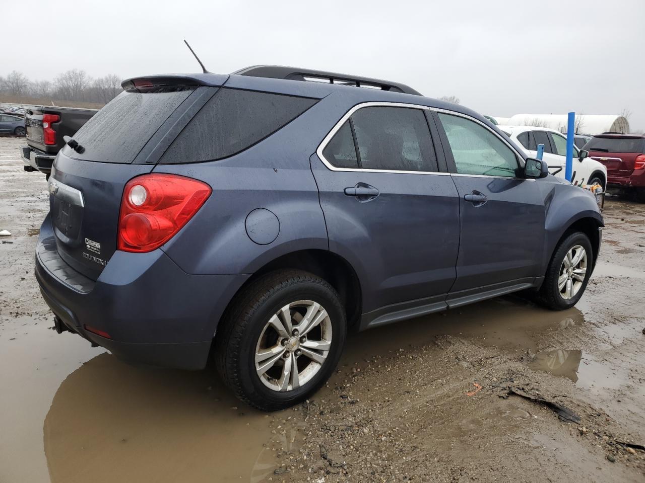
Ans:
POLYGON ((217 90, 190 84, 146 86, 124 91, 84 124, 74 136, 84 150, 64 146, 50 176, 57 251, 88 278, 97 279, 116 250, 124 185, 152 171, 160 146, 176 137, 195 97, 210 97, 217 90))

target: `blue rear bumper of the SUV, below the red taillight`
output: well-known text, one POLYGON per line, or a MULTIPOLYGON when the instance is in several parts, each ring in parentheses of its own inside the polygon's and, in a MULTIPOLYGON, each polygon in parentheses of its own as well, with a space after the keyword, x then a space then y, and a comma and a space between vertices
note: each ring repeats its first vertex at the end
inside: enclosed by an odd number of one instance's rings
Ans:
POLYGON ((155 250, 117 251, 93 281, 57 256, 49 215, 37 244, 35 276, 47 305, 72 332, 126 361, 191 370, 206 365, 217 323, 248 278, 186 274, 155 250))

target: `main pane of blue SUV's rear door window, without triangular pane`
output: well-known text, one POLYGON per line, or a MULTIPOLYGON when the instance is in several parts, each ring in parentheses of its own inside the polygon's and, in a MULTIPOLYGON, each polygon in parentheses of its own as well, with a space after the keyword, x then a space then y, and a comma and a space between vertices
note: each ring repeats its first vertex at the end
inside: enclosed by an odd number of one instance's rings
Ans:
POLYGON ((353 113, 352 122, 362 168, 439 171, 421 109, 362 108, 353 113))

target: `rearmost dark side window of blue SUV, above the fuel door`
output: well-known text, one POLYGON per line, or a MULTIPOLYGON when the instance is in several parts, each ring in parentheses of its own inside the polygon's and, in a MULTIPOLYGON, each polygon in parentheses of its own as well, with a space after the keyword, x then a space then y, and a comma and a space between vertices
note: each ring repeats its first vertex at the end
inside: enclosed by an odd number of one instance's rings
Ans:
POLYGON ((282 128, 316 102, 306 97, 220 89, 190 120, 160 162, 201 162, 232 156, 282 128))

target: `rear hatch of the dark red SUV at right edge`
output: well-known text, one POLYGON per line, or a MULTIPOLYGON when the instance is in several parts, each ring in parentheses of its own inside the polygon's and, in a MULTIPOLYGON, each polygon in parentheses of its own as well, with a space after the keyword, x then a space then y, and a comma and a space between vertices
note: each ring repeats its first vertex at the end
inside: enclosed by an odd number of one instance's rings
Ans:
POLYGON ((591 158, 607 168, 609 176, 630 176, 636 158, 645 153, 645 138, 630 135, 594 136, 584 146, 591 158))

